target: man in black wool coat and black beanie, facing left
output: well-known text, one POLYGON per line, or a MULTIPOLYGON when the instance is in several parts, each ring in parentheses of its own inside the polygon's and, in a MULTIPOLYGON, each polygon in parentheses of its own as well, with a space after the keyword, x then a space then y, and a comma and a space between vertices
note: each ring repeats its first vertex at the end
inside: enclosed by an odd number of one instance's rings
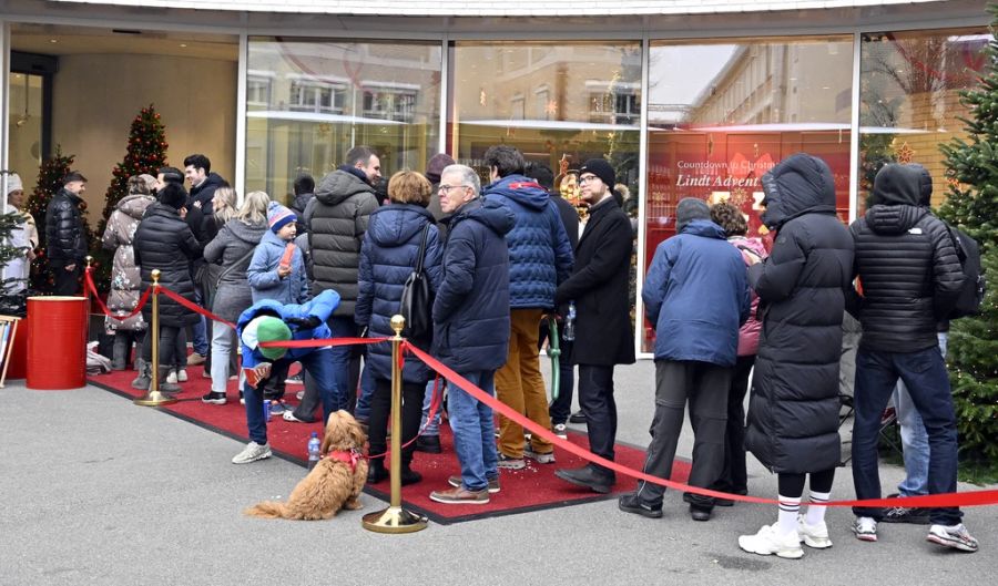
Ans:
MULTIPOLYGON (((572 276, 554 292, 557 305, 576 304, 572 362, 579 364, 579 404, 589 423, 590 450, 613 460, 617 403, 613 367, 634 363, 634 329, 628 300, 631 267, 631 223, 613 201, 613 167, 605 160, 587 161, 579 169, 589 223, 576 247, 572 276)), ((559 479, 608 493, 615 474, 597 464, 562 469, 559 479)))

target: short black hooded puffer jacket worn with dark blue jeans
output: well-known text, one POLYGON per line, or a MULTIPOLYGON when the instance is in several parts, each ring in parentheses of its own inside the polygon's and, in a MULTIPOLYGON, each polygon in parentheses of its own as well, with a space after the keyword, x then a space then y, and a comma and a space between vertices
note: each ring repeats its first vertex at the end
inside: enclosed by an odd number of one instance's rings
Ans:
POLYGON ((866 215, 849 227, 863 286, 859 346, 889 352, 934 348, 936 323, 953 309, 964 273, 946 225, 920 207, 923 172, 887 165, 866 215))

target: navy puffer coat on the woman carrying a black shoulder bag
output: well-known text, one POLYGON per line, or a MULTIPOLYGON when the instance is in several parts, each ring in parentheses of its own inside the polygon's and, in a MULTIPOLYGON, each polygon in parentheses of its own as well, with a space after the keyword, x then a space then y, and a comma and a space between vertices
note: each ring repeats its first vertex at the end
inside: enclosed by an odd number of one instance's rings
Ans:
MULTIPOLYGON (((429 278, 430 291, 440 286, 444 271, 444 245, 432 214, 413 204, 389 204, 370 215, 367 234, 360 246, 360 268, 355 319, 368 326, 371 338, 395 336, 391 316, 398 313, 406 279, 416 267, 422 230, 429 226, 422 268, 429 278)), ((418 340, 410 340, 417 343, 418 340)), ((424 348, 428 350, 428 348, 424 348)), ((368 364, 379 379, 391 379, 391 343, 367 347, 368 364)), ((419 359, 406 356, 403 379, 426 382, 430 370, 419 359)))

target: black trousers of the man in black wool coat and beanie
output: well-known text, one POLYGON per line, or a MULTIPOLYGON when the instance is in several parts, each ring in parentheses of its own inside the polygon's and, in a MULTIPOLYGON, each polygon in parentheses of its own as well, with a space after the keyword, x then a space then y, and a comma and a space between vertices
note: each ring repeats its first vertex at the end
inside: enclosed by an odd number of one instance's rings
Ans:
MULTIPOLYGON (((589 431, 589 450, 613 460, 617 442, 617 401, 613 400, 613 367, 579 364, 579 407, 585 414, 589 431)), ((598 464, 590 464, 607 480, 617 475, 598 464)))

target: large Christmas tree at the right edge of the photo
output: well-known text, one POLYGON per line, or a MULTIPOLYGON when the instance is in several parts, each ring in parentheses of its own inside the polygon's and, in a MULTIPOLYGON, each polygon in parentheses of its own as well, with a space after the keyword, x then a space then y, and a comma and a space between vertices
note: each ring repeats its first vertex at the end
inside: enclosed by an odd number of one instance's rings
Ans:
POLYGON ((987 49, 988 66, 979 85, 961 94, 969 115, 966 140, 940 150, 946 155, 949 193, 939 216, 980 246, 990 280, 981 312, 953 321, 948 362, 960 434, 968 456, 998 459, 998 4, 987 49))

